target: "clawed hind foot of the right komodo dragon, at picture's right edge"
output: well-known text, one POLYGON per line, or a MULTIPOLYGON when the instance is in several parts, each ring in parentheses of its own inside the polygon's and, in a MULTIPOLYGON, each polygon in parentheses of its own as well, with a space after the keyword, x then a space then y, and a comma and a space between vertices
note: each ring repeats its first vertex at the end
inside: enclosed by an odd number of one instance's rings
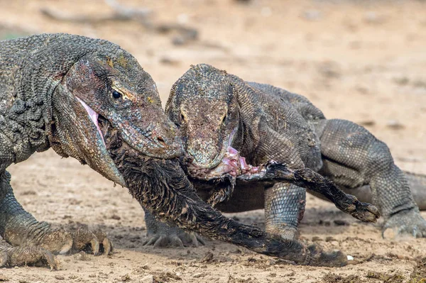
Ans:
POLYGON ((418 209, 400 211, 389 218, 382 229, 383 238, 426 238, 426 221, 418 209))

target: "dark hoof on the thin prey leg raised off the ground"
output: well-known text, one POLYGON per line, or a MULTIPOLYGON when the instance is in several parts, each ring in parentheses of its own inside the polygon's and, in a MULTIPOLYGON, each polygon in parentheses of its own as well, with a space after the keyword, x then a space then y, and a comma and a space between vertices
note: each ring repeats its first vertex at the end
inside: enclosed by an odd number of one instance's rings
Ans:
POLYGON ((380 212, 376 206, 361 202, 350 194, 347 196, 348 201, 344 202, 345 205, 341 208, 342 211, 351 214, 351 216, 363 222, 377 222, 377 219, 380 217, 380 212))

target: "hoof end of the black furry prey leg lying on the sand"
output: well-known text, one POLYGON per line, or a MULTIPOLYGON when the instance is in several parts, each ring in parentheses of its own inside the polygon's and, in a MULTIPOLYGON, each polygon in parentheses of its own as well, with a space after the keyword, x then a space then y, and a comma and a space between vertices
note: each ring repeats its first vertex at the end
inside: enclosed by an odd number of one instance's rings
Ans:
POLYGON ((309 262, 307 265, 325 266, 325 267, 342 267, 348 264, 348 257, 340 250, 334 250, 331 253, 324 252, 317 245, 307 247, 310 251, 309 262))

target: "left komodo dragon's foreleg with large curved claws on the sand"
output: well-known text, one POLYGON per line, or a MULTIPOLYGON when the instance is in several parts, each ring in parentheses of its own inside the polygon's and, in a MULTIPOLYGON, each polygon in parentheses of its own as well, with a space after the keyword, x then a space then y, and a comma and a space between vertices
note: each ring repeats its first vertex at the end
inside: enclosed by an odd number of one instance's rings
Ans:
POLYGON ((4 239, 0 243, 0 266, 31 265, 41 261, 57 268, 53 254, 82 250, 87 245, 97 254, 99 243, 104 244, 102 248, 109 253, 111 242, 102 233, 94 235, 83 229, 71 233, 53 230, 48 223, 35 220, 16 200, 10 180, 9 172, 0 173, 0 235, 4 239))

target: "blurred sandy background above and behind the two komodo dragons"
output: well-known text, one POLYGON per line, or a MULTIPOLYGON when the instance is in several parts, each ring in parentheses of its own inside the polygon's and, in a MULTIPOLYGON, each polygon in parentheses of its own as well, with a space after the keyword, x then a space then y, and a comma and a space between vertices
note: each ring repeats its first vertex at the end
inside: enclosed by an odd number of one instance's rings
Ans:
POLYGON ((307 96, 361 123, 398 162, 426 162, 426 1, 0 0, 0 38, 75 33, 118 43, 163 104, 191 64, 307 96))

